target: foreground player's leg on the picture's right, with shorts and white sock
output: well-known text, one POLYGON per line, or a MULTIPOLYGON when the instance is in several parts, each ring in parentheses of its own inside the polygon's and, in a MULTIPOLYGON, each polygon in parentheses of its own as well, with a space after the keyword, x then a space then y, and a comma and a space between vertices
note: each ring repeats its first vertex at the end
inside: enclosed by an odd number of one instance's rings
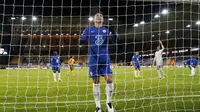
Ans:
POLYGON ((108 108, 108 112, 114 112, 111 100, 112 100, 112 93, 114 90, 113 80, 112 80, 112 70, 110 65, 102 65, 100 67, 100 72, 104 75, 106 80, 106 106, 108 108))

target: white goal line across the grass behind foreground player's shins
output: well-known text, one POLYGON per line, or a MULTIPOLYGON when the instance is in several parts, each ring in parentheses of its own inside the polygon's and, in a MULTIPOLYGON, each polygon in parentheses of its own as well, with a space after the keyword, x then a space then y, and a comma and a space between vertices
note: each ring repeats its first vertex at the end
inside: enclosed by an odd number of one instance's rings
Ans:
MULTIPOLYGON (((114 99, 113 102, 122 102, 122 101, 133 101, 133 100, 154 100, 154 99, 171 99, 171 98, 196 98, 200 95, 184 95, 184 96, 161 96, 161 97, 144 97, 144 98, 127 98, 127 99, 114 99)), ((87 101, 61 101, 61 102, 4 102, 0 105, 13 105, 13 104, 74 104, 74 103, 93 103, 94 100, 87 101)), ((101 102, 106 102, 106 100, 101 100, 101 102)))

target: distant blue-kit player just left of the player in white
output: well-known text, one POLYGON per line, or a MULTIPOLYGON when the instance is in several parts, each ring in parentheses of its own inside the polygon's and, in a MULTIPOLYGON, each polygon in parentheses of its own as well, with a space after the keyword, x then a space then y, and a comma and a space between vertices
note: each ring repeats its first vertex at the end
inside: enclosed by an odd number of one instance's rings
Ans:
POLYGON ((135 77, 140 77, 140 56, 138 52, 136 52, 135 56, 132 57, 132 63, 135 67, 135 77))

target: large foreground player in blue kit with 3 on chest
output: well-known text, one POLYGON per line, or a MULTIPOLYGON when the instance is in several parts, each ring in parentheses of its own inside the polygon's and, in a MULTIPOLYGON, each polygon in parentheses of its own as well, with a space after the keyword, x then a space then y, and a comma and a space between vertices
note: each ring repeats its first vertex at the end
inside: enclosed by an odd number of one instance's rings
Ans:
POLYGON ((96 104, 95 112, 101 112, 100 76, 103 76, 106 80, 106 106, 108 112, 114 112, 111 104, 114 87, 108 52, 110 39, 117 40, 119 36, 114 31, 109 31, 107 27, 103 26, 103 15, 101 13, 95 14, 94 26, 87 27, 80 37, 80 43, 88 41, 89 44, 89 77, 93 80, 93 94, 96 104))

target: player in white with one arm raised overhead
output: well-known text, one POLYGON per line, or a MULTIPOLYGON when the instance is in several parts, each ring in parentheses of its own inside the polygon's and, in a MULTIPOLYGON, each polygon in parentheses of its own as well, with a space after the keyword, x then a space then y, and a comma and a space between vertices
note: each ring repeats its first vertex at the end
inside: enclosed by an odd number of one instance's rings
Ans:
POLYGON ((163 66, 162 53, 164 51, 164 46, 161 41, 159 41, 159 43, 160 43, 162 49, 160 49, 160 45, 157 47, 157 51, 155 52, 155 58, 153 60, 153 66, 154 66, 154 63, 156 62, 158 77, 159 77, 159 79, 162 79, 162 78, 166 77, 166 75, 164 74, 164 72, 162 70, 162 66, 163 66))

